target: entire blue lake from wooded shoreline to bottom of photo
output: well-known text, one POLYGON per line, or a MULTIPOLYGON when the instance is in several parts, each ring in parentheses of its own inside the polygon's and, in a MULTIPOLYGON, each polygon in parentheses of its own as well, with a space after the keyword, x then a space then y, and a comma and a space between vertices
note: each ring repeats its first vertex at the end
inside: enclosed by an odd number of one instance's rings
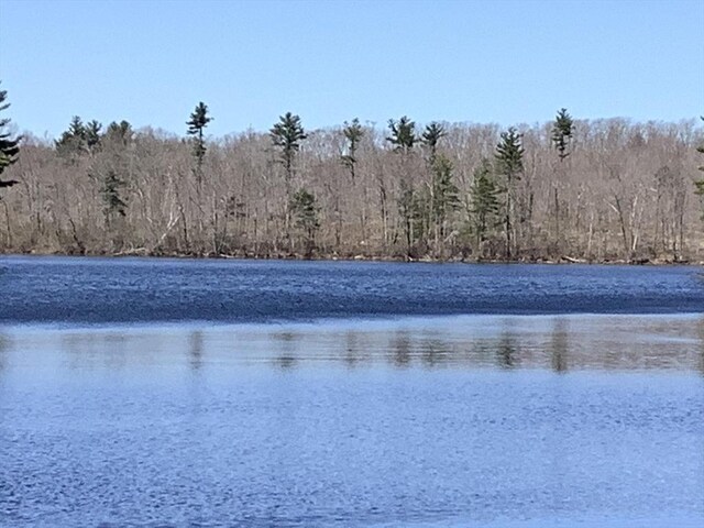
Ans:
POLYGON ((698 267, 0 257, 0 526, 703 521, 698 267))

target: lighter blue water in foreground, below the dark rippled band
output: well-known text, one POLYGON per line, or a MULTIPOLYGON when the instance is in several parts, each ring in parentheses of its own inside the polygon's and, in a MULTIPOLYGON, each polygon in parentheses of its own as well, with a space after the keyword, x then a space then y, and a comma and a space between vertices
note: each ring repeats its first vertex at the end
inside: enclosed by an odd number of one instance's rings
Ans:
POLYGON ((698 526, 698 373, 703 316, 8 328, 0 526, 698 526))

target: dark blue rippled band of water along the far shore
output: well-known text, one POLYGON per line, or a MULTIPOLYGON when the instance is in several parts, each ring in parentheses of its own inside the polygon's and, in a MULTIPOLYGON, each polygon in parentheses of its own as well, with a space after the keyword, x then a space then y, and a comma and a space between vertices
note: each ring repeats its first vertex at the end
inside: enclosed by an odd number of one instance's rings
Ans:
POLYGON ((704 311, 701 267, 0 258, 0 323, 704 311))

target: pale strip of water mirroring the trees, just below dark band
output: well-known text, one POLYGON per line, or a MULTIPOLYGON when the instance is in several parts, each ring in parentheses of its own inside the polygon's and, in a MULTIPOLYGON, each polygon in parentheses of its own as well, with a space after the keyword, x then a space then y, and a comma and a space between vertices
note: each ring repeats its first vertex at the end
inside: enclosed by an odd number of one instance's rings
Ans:
MULTIPOLYGON (((702 316, 450 317, 288 326, 145 328, 32 332, 0 337, 0 369, 22 350, 65 351, 70 369, 172 362, 193 370, 217 363, 349 369, 487 367, 583 370, 681 370, 704 373, 702 316)), ((26 360, 26 358, 25 358, 26 360)))

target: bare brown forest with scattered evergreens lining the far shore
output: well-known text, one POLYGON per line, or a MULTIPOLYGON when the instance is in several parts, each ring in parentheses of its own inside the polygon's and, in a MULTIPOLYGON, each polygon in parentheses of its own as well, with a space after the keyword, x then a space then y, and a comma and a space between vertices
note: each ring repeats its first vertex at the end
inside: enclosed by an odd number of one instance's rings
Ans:
POLYGON ((0 252, 704 261, 695 119, 307 130, 287 112, 224 138, 211 119, 200 102, 175 135, 74 117, 53 141, 0 120, 0 252))

